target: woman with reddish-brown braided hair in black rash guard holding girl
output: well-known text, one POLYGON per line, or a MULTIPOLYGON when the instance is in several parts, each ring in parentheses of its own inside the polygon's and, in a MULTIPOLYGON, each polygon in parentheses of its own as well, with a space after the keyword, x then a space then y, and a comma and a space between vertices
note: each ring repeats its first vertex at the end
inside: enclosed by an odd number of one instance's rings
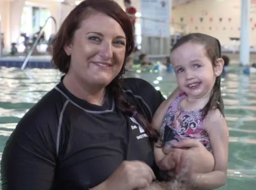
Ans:
MULTIPOLYGON (((149 139, 157 133, 150 121, 164 98, 142 79, 123 79, 133 46, 129 17, 114 1, 83 1, 69 13, 53 40, 53 62, 64 76, 11 134, 2 155, 2 190, 154 185, 149 139)), ((172 157, 209 165, 200 143, 177 146, 188 150, 177 148, 162 169, 172 168, 172 157)))

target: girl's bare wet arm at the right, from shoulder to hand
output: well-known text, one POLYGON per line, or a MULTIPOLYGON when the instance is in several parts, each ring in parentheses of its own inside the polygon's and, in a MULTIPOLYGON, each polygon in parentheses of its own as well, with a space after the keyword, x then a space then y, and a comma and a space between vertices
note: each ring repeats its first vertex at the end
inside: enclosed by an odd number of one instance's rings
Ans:
POLYGON ((229 132, 225 118, 218 109, 206 118, 206 129, 213 149, 213 172, 192 174, 190 185, 200 189, 215 189, 226 185, 229 132))

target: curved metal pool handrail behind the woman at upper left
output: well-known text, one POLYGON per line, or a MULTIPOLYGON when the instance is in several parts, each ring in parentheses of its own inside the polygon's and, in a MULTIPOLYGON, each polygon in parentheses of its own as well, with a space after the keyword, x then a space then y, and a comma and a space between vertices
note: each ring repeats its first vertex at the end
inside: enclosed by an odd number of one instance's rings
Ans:
POLYGON ((54 22, 54 24, 55 24, 55 33, 57 32, 57 23, 56 23, 56 19, 55 19, 53 16, 48 17, 48 18, 46 19, 46 22, 45 22, 44 25, 42 26, 42 28, 41 28, 41 30, 40 30, 40 32, 39 32, 39 35, 37 36, 37 38, 36 38, 36 40, 35 40, 33 46, 31 47, 31 49, 29 50, 27 56, 25 57, 25 60, 24 60, 24 62, 23 62, 23 64, 22 64, 22 66, 21 66, 21 70, 24 70, 24 69, 25 69, 25 66, 27 65, 30 56, 32 55, 32 53, 33 53, 33 51, 35 50, 37 44, 39 43, 39 40, 40 40, 40 38, 41 38, 41 36, 42 36, 42 34, 43 34, 43 32, 44 32, 44 28, 46 27, 46 24, 48 23, 48 21, 49 21, 50 18, 53 19, 53 22, 54 22))

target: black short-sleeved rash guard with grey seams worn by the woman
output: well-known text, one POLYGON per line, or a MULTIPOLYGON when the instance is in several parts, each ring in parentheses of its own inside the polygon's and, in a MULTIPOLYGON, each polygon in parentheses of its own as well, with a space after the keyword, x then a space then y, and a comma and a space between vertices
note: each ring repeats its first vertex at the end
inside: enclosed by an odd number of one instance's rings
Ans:
MULTIPOLYGON (((143 79, 126 78, 126 98, 151 121, 162 94, 143 79)), ((144 129, 124 116, 110 93, 103 106, 76 98, 62 82, 17 124, 4 148, 2 190, 87 189, 97 186, 124 160, 153 169, 144 129)))

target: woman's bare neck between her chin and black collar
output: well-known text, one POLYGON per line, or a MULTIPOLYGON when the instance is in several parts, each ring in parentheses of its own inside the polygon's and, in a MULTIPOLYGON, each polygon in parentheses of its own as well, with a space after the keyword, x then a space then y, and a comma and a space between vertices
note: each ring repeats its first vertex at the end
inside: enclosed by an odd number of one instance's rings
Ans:
POLYGON ((86 100, 90 104, 103 105, 106 94, 104 86, 89 85, 68 74, 63 78, 62 83, 74 96, 86 100))

